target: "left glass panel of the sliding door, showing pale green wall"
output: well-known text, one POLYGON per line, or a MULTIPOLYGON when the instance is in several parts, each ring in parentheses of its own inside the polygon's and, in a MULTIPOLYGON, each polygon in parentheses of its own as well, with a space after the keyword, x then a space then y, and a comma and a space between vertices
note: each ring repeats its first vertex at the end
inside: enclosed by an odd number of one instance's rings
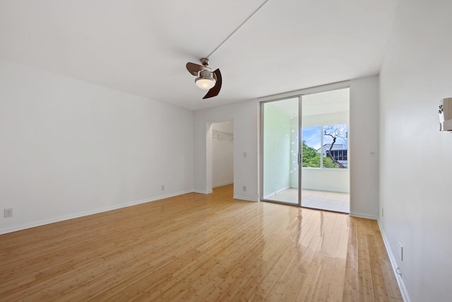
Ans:
POLYGON ((261 103, 263 200, 299 205, 299 98, 261 103))

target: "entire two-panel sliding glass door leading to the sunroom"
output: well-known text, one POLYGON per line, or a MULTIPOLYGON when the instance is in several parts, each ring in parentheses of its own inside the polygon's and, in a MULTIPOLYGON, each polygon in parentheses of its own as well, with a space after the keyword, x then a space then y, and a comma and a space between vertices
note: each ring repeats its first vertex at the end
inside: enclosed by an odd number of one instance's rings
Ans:
POLYGON ((261 103, 261 200, 350 212, 349 88, 261 103))

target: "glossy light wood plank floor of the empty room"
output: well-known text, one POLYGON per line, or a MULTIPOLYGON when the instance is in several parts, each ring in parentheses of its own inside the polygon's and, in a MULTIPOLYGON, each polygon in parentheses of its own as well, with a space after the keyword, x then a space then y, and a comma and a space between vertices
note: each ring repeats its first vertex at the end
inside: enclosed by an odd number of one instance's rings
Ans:
POLYGON ((232 185, 0 236, 0 301, 402 301, 376 221, 232 185))

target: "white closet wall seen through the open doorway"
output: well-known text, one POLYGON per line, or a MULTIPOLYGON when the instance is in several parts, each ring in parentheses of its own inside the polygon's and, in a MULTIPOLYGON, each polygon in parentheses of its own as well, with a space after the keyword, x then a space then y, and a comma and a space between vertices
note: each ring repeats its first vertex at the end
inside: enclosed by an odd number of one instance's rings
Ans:
POLYGON ((212 132, 212 185, 229 185, 234 182, 234 121, 215 122, 212 132))

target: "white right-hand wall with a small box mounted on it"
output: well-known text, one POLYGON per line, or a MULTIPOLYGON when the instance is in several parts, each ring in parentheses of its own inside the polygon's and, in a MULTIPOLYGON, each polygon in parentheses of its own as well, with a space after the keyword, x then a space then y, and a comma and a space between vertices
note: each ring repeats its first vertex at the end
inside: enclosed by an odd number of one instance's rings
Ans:
POLYGON ((452 133, 438 105, 452 97, 452 1, 398 5, 380 74, 379 225, 410 300, 451 301, 452 133))

